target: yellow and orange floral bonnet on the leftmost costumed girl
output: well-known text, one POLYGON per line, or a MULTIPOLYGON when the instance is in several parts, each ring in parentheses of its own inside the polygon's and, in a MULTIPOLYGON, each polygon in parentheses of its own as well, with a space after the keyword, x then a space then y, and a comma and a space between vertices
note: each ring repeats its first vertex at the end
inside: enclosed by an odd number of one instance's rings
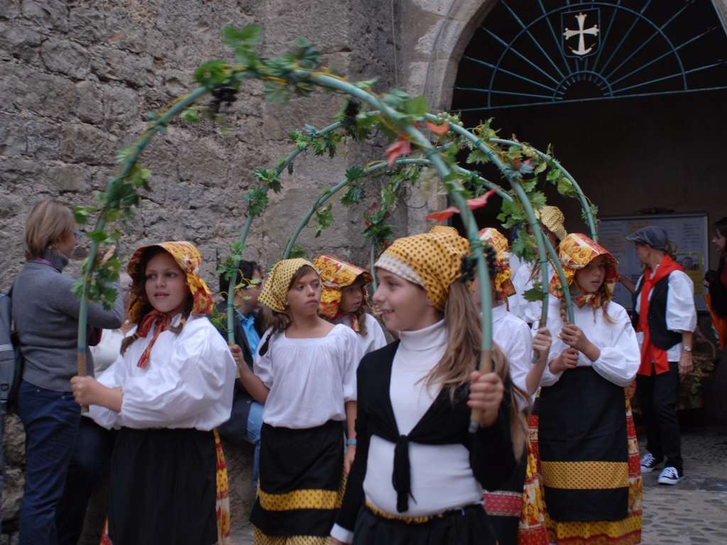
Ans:
POLYGON ((202 256, 193 243, 187 241, 167 241, 158 244, 142 246, 134 251, 126 272, 132 277, 132 290, 129 296, 129 320, 137 322, 140 312, 148 304, 144 293, 145 271, 141 270, 142 258, 145 251, 150 248, 161 248, 174 258, 177 265, 185 274, 189 291, 192 294, 193 305, 192 315, 212 314, 214 299, 207 288, 204 280, 199 276, 199 267, 202 264, 202 256))

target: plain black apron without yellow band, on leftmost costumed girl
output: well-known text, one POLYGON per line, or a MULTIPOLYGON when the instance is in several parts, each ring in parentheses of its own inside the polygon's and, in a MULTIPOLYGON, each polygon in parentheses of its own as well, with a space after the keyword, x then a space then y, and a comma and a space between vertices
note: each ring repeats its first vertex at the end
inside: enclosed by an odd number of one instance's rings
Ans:
POLYGON ((113 545, 217 543, 213 432, 121 428, 111 459, 113 545))

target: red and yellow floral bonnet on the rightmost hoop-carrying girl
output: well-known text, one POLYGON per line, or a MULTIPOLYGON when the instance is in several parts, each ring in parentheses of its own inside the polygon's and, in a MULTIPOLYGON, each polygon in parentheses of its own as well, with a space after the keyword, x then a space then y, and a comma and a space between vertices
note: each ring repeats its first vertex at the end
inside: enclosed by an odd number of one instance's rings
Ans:
MULTIPOLYGON (((619 262, 610 251, 582 233, 571 233, 561 241, 558 254, 569 286, 573 285, 577 270, 582 269, 598 256, 606 256, 606 278, 603 279, 603 285, 606 286, 606 298, 603 299, 601 294, 579 294, 574 297, 573 302, 579 307, 590 303, 593 308, 598 308, 611 300, 616 281, 619 279, 619 262)), ((550 279, 550 293, 559 299, 563 298, 563 286, 561 286, 561 279, 558 278, 557 272, 550 279)))

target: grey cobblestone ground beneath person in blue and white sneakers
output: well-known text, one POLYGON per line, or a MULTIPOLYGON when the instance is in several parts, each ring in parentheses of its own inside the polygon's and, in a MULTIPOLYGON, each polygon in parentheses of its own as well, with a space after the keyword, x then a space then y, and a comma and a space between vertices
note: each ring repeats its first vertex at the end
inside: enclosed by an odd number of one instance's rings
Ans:
MULTIPOLYGON (((643 476, 642 543, 727 545, 727 429, 684 432, 682 453, 678 485, 656 483, 658 471, 643 476)), ((233 529, 233 544, 252 544, 252 528, 233 529)))

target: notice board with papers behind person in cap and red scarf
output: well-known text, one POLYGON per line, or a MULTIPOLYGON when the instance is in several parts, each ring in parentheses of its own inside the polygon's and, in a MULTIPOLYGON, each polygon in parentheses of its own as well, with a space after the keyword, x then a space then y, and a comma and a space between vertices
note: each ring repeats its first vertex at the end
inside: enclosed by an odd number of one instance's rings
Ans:
MULTIPOLYGON (((698 310, 707 310, 704 303, 704 272, 709 265, 709 223, 707 214, 663 214, 653 216, 602 217, 598 226, 598 243, 619 260, 619 273, 634 283, 641 275, 641 262, 636 257, 633 243, 626 236, 646 225, 662 227, 669 240, 677 245, 677 261, 694 282, 694 299, 698 310)), ((621 283, 616 284, 614 301, 627 310, 633 310, 630 292, 621 283)))

